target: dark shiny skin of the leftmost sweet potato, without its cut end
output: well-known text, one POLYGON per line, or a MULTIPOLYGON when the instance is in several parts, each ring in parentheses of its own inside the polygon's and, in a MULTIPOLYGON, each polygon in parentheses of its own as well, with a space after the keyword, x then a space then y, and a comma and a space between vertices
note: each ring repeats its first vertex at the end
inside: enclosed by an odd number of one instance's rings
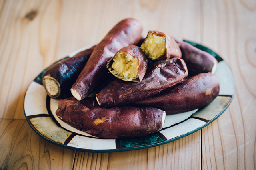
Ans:
POLYGON ((53 97, 48 94, 50 97, 54 99, 64 99, 72 96, 70 88, 76 82, 78 75, 84 68, 94 48, 95 45, 89 49, 77 53, 73 57, 68 57, 62 61, 59 61, 58 63, 51 65, 44 72, 43 77, 46 75, 53 77, 60 84, 60 95, 53 97))

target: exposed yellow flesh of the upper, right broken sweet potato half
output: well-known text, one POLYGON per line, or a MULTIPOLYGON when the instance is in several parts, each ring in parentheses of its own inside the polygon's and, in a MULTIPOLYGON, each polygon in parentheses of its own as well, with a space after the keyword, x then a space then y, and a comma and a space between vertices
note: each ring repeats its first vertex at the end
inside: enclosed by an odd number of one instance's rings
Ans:
POLYGON ((164 37, 157 36, 156 33, 151 33, 147 36, 140 48, 148 56, 148 58, 156 60, 165 55, 165 39, 164 37))

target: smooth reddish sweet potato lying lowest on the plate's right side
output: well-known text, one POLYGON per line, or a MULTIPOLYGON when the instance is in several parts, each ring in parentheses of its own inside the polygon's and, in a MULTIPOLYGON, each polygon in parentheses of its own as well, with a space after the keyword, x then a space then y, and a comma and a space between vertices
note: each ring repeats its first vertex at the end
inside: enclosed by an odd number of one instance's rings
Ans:
POLYGON ((219 81, 214 74, 200 73, 167 91, 132 105, 156 107, 166 111, 166 114, 176 114, 209 104, 218 96, 219 91, 219 81))

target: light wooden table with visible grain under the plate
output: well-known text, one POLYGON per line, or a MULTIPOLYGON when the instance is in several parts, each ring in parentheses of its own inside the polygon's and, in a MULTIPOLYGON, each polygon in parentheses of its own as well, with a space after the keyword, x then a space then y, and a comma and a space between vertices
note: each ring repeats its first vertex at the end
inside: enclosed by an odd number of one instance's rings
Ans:
POLYGON ((0 169, 255 169, 255 0, 0 0, 0 169), (133 17, 148 30, 217 52, 232 69, 235 96, 213 123, 168 144, 87 153, 56 146, 28 125, 30 82, 68 53, 98 43, 133 17))

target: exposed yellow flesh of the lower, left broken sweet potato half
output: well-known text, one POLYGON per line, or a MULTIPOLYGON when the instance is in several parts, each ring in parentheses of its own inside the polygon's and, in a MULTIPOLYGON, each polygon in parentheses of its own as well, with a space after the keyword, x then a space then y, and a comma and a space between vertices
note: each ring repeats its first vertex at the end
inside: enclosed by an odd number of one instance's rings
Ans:
POLYGON ((124 81, 132 81, 138 78, 139 60, 126 52, 118 52, 113 58, 114 75, 118 75, 124 81))

